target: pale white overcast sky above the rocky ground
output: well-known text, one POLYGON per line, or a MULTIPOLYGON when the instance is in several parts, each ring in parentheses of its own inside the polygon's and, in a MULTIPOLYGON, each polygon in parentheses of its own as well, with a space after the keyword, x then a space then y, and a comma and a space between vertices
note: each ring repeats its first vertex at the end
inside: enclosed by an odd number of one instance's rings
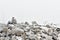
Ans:
POLYGON ((0 22, 13 16, 18 22, 60 23, 60 0, 0 0, 0 22))

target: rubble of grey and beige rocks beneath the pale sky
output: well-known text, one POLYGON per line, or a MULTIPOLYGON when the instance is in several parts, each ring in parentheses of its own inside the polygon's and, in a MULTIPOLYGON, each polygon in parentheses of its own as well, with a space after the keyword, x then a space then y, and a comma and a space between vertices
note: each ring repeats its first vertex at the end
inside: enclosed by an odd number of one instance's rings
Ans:
POLYGON ((60 40, 60 28, 54 24, 39 25, 36 21, 17 23, 15 17, 0 24, 0 40, 60 40))

